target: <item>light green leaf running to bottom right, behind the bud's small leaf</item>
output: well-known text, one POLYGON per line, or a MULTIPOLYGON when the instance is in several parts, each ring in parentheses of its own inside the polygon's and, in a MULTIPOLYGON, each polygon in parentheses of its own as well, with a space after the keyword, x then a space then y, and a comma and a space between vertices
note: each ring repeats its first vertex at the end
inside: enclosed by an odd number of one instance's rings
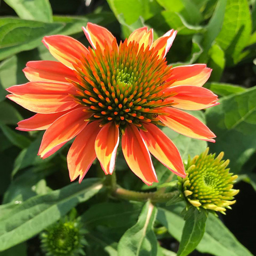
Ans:
MULTIPOLYGON (((176 204, 165 209, 159 207, 157 213, 157 221, 165 226, 178 241, 181 239, 184 225, 184 220, 180 216, 183 208, 183 204, 176 204)), ((212 214, 209 214, 207 218, 204 236, 196 249, 201 253, 211 253, 215 256, 253 256, 212 214)))

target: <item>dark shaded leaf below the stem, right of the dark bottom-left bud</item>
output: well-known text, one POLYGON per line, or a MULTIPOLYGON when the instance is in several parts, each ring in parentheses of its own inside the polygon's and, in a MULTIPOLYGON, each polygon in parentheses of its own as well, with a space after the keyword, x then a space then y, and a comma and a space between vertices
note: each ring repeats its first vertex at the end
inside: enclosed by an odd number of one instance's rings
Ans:
POLYGON ((86 228, 98 225, 105 225, 111 228, 131 227, 136 223, 141 208, 141 204, 128 202, 94 204, 81 215, 81 221, 86 228))

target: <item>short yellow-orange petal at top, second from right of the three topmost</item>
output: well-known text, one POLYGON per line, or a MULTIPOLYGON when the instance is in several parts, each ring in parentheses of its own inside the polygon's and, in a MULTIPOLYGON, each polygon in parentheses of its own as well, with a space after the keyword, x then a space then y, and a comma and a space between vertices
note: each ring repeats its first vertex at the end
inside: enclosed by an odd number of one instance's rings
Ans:
POLYGON ((139 49, 144 44, 144 49, 149 46, 151 47, 153 42, 153 29, 149 29, 147 27, 143 27, 140 29, 134 30, 128 38, 127 43, 135 42, 139 44, 139 49))

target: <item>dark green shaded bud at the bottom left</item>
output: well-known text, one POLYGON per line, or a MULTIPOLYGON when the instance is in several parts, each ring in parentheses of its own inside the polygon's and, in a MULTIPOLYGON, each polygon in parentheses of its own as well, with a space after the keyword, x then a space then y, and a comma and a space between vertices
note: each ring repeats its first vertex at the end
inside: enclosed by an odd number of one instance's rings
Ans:
POLYGON ((73 221, 52 225, 41 234, 41 239, 43 250, 52 256, 80 255, 83 246, 80 230, 73 221))

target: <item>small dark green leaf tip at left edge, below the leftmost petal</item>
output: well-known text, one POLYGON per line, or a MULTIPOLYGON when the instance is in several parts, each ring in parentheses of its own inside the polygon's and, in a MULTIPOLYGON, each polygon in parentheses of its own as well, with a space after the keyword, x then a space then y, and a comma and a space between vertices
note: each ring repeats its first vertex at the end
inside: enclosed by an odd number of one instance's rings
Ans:
POLYGON ((5 125, 16 125, 23 117, 9 102, 0 102, 1 116, 0 122, 5 125))

